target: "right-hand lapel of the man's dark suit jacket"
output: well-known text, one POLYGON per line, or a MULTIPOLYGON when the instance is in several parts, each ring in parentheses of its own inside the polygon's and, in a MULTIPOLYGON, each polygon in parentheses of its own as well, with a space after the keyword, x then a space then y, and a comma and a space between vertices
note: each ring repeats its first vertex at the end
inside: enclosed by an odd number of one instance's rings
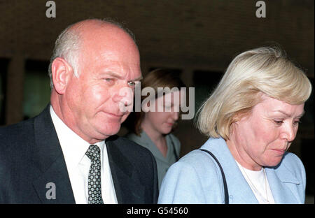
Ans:
POLYGON ((122 146, 113 136, 106 140, 109 166, 118 203, 144 203, 145 187, 139 182, 137 171, 123 154, 122 146))

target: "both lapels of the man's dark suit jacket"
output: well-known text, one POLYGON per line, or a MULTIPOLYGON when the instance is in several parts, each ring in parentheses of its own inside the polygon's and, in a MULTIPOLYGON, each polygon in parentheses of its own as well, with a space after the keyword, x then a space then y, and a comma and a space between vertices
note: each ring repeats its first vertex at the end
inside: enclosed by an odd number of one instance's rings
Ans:
MULTIPOLYGON (((42 203, 76 203, 49 108, 50 104, 34 119, 33 161, 38 169, 38 177, 33 181, 34 189, 42 203), (55 184, 55 199, 46 197, 52 188, 50 182, 55 184)), ((144 186, 137 182, 137 172, 119 150, 116 138, 108 138, 106 148, 118 203, 143 203, 144 186)))

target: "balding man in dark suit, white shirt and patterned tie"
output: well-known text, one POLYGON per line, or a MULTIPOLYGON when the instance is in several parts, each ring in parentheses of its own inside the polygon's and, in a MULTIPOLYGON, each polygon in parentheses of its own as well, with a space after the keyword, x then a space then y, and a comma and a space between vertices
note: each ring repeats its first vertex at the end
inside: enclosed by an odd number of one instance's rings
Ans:
POLYGON ((73 24, 49 75, 45 110, 0 129, 0 203, 156 203, 153 155, 116 136, 141 80, 132 34, 109 20, 73 24))

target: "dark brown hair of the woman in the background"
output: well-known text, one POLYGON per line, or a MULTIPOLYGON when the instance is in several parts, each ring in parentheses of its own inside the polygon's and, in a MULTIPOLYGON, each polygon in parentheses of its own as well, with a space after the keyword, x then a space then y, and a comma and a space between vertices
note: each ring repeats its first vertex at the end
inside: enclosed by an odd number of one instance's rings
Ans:
MULTIPOLYGON (((177 73, 174 73, 172 70, 167 70, 163 68, 155 69, 154 71, 149 72, 144 80, 141 81, 141 89, 146 87, 152 87, 155 90, 155 99, 158 98, 158 87, 169 87, 172 89, 177 87, 179 90, 181 87, 186 87, 181 78, 177 73)), ((141 96, 141 103, 148 96, 141 96)), ((132 112, 130 117, 126 120, 126 126, 131 131, 134 131, 138 136, 141 133, 141 122, 144 120, 144 111, 141 112, 132 112)))

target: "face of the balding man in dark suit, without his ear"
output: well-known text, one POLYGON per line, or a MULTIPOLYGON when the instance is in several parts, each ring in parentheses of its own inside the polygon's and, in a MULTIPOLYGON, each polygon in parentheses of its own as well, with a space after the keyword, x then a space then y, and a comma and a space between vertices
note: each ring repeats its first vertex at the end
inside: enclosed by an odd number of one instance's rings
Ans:
POLYGON ((90 143, 118 133, 129 115, 120 110, 121 101, 133 103, 133 92, 127 96, 120 90, 133 90, 141 78, 139 51, 124 34, 111 38, 100 32, 85 38, 78 59, 79 77, 71 75, 66 85, 70 127, 90 143))

